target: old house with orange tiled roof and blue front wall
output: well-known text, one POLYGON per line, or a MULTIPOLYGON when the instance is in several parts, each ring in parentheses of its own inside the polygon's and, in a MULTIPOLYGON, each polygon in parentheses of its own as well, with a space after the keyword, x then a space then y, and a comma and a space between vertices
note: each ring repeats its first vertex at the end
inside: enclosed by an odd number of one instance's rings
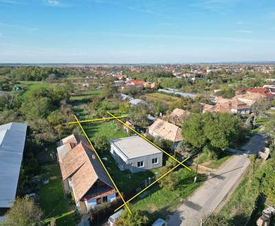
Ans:
POLYGON ((59 142, 58 161, 65 192, 72 192, 76 207, 85 214, 118 194, 91 145, 74 134, 59 142))

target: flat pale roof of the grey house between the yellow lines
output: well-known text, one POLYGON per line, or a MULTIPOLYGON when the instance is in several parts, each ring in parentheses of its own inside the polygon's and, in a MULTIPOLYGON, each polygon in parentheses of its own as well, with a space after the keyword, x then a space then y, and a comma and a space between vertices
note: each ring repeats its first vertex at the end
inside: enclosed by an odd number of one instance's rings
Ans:
POLYGON ((140 136, 130 136, 117 140, 111 140, 111 145, 115 145, 126 159, 139 158, 146 155, 162 153, 155 146, 141 138, 140 136))

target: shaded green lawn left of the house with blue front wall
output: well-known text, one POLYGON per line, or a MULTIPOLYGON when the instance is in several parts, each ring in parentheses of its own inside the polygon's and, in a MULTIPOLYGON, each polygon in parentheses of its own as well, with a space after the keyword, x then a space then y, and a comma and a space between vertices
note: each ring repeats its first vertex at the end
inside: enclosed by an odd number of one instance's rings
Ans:
POLYGON ((76 225, 79 218, 75 214, 76 205, 65 197, 58 164, 43 166, 42 178, 50 179, 49 184, 41 182, 39 186, 39 197, 41 208, 44 213, 44 222, 48 223, 52 218, 56 219, 57 226, 76 225))

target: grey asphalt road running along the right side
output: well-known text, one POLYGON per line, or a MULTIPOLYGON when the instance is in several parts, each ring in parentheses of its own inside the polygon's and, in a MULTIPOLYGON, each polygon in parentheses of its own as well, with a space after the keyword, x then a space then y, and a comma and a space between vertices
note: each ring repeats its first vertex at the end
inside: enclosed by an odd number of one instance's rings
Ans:
MULTIPOLYGON (((242 149, 257 153, 264 147, 265 138, 263 131, 260 131, 242 149)), ((228 192, 239 183, 239 179, 250 164, 248 157, 248 155, 233 155, 217 171, 210 173, 208 180, 169 216, 168 225, 199 225, 203 215, 217 209, 228 192)))

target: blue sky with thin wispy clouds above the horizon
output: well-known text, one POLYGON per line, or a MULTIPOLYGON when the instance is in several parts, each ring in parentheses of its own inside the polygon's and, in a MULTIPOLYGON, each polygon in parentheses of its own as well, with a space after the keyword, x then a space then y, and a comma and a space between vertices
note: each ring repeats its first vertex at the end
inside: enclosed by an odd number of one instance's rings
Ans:
POLYGON ((0 0, 0 62, 275 61, 274 0, 0 0))

